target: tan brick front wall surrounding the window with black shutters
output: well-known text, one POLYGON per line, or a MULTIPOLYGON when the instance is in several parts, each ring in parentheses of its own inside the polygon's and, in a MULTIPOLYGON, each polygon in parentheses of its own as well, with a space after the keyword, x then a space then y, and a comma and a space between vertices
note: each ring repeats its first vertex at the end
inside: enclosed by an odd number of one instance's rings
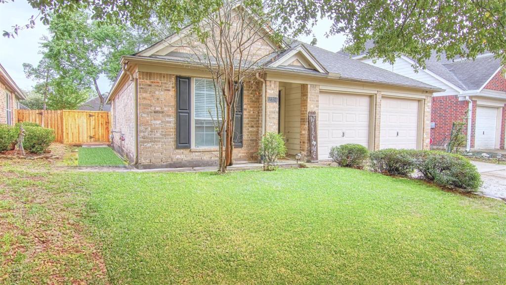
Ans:
MULTIPOLYGON (((175 80, 176 75, 171 74, 139 73, 139 164, 142 168, 217 163, 216 149, 176 149, 175 80)), ((260 88, 258 83, 245 83, 243 147, 234 149, 234 160, 256 159, 261 124, 260 88)))

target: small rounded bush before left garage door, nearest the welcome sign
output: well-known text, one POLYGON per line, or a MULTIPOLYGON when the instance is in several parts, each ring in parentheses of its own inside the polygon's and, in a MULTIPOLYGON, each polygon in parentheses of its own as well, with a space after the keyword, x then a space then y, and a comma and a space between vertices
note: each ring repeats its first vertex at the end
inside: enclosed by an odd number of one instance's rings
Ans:
POLYGON ((369 151, 359 144, 346 144, 332 147, 329 155, 339 166, 362 168, 369 156, 369 151))

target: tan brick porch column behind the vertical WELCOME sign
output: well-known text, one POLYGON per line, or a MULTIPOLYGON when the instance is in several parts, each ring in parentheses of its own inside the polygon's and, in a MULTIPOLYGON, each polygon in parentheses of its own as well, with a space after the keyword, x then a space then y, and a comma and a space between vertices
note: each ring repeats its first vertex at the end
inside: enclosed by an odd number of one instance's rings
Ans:
MULTIPOLYGON (((304 160, 308 160, 310 157, 308 112, 316 112, 318 119, 319 97, 320 85, 301 84, 301 154, 304 160)), ((318 131, 318 127, 316 130, 318 131)))

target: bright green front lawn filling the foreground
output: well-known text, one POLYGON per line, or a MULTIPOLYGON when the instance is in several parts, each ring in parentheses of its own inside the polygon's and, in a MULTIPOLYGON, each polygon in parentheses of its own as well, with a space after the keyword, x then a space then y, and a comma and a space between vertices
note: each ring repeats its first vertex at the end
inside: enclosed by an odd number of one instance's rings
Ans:
POLYGON ((504 284, 506 206, 346 168, 78 173, 112 284, 504 284))

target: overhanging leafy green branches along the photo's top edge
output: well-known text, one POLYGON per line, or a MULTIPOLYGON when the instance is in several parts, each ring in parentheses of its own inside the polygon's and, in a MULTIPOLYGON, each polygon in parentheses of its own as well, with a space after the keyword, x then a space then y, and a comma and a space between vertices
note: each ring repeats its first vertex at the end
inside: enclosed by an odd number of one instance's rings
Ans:
MULTIPOLYGON (((5 0, 3 0, 5 2, 5 0)), ((92 11, 99 22, 150 26, 165 22, 173 30, 200 21, 223 5, 221 0, 27 0, 40 11, 43 23, 54 16, 75 10, 92 11)), ((489 51, 506 63, 506 1, 504 0, 248 0, 245 5, 262 3, 273 21, 281 23, 287 35, 310 34, 313 25, 328 18, 329 34, 347 35, 348 51, 364 50, 367 40, 375 42, 371 57, 393 61, 401 54, 423 65, 435 50, 447 58, 474 58, 489 51)), ((14 25, 4 36, 13 37, 20 29, 35 25, 14 25)))

